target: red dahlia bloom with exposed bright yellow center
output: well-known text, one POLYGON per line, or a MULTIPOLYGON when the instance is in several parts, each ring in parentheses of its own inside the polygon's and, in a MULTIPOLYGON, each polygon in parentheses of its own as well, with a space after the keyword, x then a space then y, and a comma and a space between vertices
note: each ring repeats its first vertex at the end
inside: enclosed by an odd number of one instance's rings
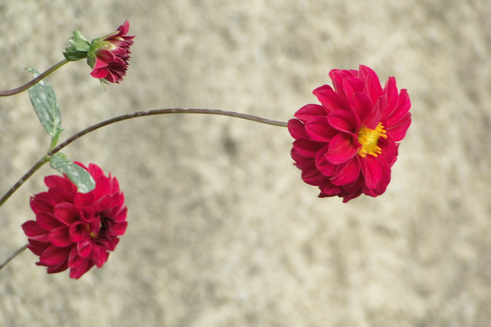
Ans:
POLYGON ((382 89, 377 74, 363 65, 358 71, 333 69, 329 77, 334 90, 323 85, 312 92, 322 105, 307 104, 288 122, 294 165, 305 183, 319 186, 320 198, 379 196, 390 181, 397 142, 411 124, 408 92, 397 93, 394 77, 382 89))

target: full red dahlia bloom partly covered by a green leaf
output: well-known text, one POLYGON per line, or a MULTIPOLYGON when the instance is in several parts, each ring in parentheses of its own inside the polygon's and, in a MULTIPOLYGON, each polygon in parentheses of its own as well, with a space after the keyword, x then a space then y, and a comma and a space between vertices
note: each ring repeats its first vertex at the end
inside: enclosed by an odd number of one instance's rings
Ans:
POLYGON ((77 192, 67 176, 46 176, 48 192, 30 199, 36 220, 22 225, 29 248, 39 255, 38 266, 48 267, 48 274, 70 268, 70 278, 80 278, 92 266, 101 268, 114 251, 128 226, 124 195, 115 177, 105 176, 94 164, 86 168, 96 181, 95 189, 77 192))

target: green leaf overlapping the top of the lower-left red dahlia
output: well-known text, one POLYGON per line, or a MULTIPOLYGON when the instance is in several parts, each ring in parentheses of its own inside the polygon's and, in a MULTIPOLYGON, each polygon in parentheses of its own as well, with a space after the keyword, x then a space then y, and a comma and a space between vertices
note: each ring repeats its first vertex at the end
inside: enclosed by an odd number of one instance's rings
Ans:
POLYGON ((50 160, 51 168, 65 174, 77 185, 80 193, 88 193, 95 188, 94 178, 85 169, 67 159, 66 155, 57 152, 50 160))

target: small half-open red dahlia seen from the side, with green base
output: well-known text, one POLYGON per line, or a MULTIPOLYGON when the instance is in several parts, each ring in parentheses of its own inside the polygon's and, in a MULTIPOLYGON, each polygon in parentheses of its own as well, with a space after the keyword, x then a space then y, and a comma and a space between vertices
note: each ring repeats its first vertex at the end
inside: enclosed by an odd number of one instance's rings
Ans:
POLYGON ((90 75, 111 83, 123 80, 130 60, 130 46, 135 36, 126 36, 130 23, 124 22, 116 31, 93 39, 87 52, 87 64, 93 68, 90 75))

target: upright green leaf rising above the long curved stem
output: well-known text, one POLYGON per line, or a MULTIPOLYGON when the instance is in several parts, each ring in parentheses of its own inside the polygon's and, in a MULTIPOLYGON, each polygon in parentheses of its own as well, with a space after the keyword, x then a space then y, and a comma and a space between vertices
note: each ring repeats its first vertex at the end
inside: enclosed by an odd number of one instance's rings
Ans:
MULTIPOLYGON (((33 68, 26 68, 32 73, 34 78, 39 76, 38 71, 33 68)), ((53 137, 61 129, 61 111, 56 100, 55 91, 46 78, 41 79, 37 84, 27 90, 34 111, 44 129, 53 137)), ((59 138, 59 135, 58 135, 59 138)))

